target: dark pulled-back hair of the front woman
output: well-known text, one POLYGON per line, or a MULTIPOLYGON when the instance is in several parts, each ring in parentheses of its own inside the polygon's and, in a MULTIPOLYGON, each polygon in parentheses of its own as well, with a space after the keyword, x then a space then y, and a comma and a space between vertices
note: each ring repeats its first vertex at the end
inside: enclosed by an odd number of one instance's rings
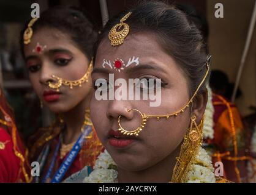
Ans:
MULTIPOLYGON (((160 1, 140 1, 134 9, 119 13, 105 25, 94 48, 94 54, 97 53, 101 41, 108 37, 111 27, 118 24, 128 12, 132 12, 125 21, 130 27, 129 35, 136 32, 157 35, 160 46, 181 65, 189 78, 190 94, 194 93, 206 73, 207 47, 194 21, 174 5, 160 1)), ((200 90, 205 89, 205 83, 200 90)))

